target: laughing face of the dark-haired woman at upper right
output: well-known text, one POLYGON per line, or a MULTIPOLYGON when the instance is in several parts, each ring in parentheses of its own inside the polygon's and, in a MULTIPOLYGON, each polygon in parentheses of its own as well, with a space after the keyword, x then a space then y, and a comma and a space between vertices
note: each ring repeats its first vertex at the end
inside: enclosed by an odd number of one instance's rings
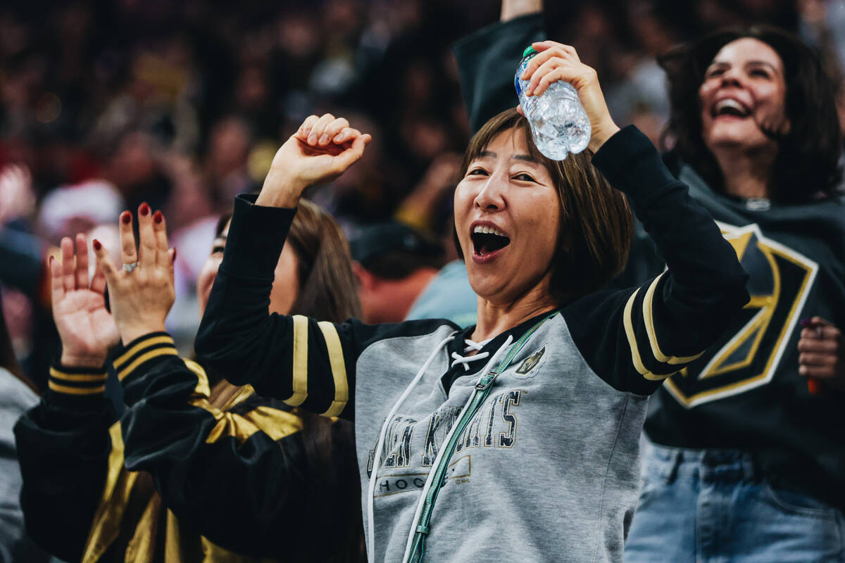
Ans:
POLYGON ((745 37, 723 46, 698 91, 707 148, 776 153, 764 131, 788 130, 783 77, 781 57, 766 43, 745 37))

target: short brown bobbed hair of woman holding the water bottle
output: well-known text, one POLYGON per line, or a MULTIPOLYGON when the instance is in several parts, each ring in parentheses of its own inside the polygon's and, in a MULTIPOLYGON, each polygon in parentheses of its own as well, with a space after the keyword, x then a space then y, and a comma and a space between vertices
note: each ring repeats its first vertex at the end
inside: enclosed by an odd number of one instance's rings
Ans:
MULTIPOLYGON (((528 154, 546 167, 558 191, 560 230, 552 258, 553 297, 562 305, 602 289, 628 261, 634 225, 628 201, 591 164, 590 151, 570 154, 565 160, 543 156, 528 120, 515 109, 502 111, 475 134, 464 154, 461 178, 472 160, 509 129, 525 133, 528 154)), ((455 244, 463 256, 456 232, 455 244)))

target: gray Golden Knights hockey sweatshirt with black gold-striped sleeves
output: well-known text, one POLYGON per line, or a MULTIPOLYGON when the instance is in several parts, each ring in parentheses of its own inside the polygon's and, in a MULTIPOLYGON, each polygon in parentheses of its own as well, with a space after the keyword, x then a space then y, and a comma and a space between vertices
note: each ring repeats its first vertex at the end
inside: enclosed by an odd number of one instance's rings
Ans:
MULTIPOLYGON (((732 247, 645 136, 626 127, 593 164, 628 196, 668 271, 581 297, 532 333, 461 434, 444 482, 431 485, 441 489, 426 561, 621 560, 647 396, 748 300, 732 247)), ((402 561, 428 475, 479 376, 542 317, 469 355, 472 328, 448 321, 269 316, 293 213, 237 199, 196 350, 242 374, 233 383, 355 420, 369 558, 402 561)))

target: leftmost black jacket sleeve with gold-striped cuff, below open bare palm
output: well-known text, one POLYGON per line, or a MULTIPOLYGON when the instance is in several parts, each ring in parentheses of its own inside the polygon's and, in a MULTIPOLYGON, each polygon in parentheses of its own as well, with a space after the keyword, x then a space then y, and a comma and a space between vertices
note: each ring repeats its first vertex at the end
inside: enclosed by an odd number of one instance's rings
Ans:
POLYGON ((54 365, 41 403, 14 426, 26 531, 42 549, 82 558, 108 472, 115 422, 106 369, 54 365))

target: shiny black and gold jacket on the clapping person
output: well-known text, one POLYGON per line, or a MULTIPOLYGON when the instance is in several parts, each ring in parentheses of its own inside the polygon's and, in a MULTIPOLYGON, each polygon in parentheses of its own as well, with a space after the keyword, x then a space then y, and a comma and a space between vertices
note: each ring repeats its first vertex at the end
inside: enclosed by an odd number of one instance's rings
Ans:
POLYGON ((248 386, 216 409, 206 372, 166 333, 128 344, 114 367, 122 420, 104 397, 105 368, 55 365, 15 426, 21 504, 42 548, 84 563, 357 560, 360 542, 303 541, 314 520, 361 526, 347 428, 330 426, 332 474, 314 479, 325 469, 308 455, 303 416, 248 386))

